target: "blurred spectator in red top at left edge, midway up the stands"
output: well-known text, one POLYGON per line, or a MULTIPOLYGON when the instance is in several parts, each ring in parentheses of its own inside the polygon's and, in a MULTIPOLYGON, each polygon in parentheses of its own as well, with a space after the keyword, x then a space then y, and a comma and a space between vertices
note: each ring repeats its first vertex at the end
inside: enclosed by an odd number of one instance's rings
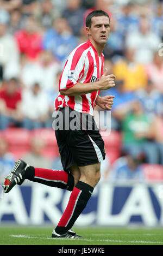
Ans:
POLYGON ((18 87, 18 81, 11 78, 4 83, 4 88, 0 92, 1 106, 3 104, 3 111, 0 115, 0 129, 6 129, 10 124, 14 126, 21 126, 22 123, 22 95, 18 87))

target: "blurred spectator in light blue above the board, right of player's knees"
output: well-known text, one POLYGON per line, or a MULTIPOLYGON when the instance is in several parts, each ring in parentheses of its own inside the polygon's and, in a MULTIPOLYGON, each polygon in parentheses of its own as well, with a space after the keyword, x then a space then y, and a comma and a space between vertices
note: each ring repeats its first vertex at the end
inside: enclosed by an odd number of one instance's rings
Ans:
POLYGON ((117 159, 111 166, 110 181, 125 182, 125 181, 145 181, 145 176, 142 171, 141 164, 145 161, 143 153, 133 156, 130 152, 117 159))

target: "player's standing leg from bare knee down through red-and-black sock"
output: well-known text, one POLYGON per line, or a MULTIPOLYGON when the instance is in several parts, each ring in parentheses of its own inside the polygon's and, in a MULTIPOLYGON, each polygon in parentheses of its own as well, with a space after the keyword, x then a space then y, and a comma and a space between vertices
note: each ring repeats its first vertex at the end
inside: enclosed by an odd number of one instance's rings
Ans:
POLYGON ((100 180, 100 165, 99 162, 87 166, 79 166, 80 180, 72 190, 66 210, 57 227, 53 230, 52 237, 64 236, 83 212, 93 193, 94 187, 100 180))

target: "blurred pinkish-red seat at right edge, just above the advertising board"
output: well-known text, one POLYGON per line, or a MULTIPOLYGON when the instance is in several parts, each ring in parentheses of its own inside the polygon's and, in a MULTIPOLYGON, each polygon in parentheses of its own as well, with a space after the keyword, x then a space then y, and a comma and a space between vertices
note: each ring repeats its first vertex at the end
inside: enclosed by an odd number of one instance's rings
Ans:
POLYGON ((160 164, 143 164, 142 171, 145 175, 146 181, 163 180, 163 166, 160 164))

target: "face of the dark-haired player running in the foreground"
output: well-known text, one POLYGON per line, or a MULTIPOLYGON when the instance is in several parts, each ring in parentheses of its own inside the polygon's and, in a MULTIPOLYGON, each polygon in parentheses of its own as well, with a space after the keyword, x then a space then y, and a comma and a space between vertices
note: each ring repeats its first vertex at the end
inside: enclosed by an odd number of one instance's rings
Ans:
POLYGON ((110 21, 107 16, 92 17, 91 28, 86 28, 87 34, 96 44, 106 44, 110 33, 110 21))

